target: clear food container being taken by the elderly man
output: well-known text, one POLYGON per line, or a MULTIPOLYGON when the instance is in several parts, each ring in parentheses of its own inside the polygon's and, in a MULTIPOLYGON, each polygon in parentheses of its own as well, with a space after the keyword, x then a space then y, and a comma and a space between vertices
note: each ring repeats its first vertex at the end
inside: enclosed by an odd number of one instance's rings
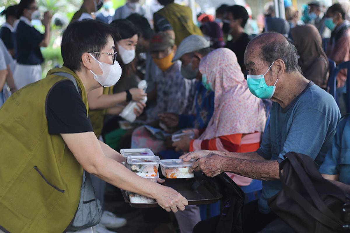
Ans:
POLYGON ((163 159, 160 161, 160 167, 163 176, 168 179, 192 178, 194 174, 188 170, 194 162, 195 160, 184 162, 182 159, 163 159))

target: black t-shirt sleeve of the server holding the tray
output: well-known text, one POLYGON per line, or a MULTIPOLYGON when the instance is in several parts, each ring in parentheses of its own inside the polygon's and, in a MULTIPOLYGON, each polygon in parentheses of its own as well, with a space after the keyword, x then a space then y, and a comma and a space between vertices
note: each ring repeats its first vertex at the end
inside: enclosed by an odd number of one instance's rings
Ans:
POLYGON ((46 104, 50 134, 93 131, 85 104, 72 81, 57 83, 48 94, 46 104))

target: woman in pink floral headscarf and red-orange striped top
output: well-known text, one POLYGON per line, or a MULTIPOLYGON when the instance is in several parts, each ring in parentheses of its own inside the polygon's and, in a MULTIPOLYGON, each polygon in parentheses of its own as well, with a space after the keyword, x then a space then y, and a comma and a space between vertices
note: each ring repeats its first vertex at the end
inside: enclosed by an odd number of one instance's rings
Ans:
MULTIPOLYGON (((200 72, 204 86, 212 89, 214 113, 205 131, 194 130, 187 151, 210 150, 229 152, 252 152, 260 145, 260 136, 266 123, 266 111, 261 99, 248 89, 240 70, 237 57, 229 49, 217 49, 201 60, 200 72)), ((173 146, 182 151, 183 138, 173 146)), ((238 185, 246 186, 250 178, 230 174, 238 185)))

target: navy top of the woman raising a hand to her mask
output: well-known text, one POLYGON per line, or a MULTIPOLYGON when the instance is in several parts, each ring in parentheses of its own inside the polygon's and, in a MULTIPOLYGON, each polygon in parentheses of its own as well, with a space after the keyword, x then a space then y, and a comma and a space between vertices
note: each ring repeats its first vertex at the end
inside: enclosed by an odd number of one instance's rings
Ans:
POLYGON ((15 58, 22 65, 38 65, 44 62, 39 44, 44 39, 34 27, 20 20, 15 32, 15 58))

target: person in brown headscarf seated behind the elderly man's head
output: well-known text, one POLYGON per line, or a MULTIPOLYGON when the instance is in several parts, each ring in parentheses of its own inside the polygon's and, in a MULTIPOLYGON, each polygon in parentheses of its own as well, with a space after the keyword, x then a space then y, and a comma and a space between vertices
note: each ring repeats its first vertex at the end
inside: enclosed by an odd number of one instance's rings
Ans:
POLYGON ((298 65, 304 77, 323 89, 327 88, 329 63, 322 49, 322 38, 317 28, 306 24, 292 28, 290 33, 300 56, 298 65))

